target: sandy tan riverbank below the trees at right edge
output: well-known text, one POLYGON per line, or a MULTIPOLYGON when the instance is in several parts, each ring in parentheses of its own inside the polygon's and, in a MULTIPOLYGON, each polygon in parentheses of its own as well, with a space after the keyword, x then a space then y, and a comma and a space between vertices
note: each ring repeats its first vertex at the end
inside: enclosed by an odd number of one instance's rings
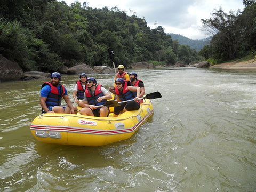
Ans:
POLYGON ((210 68, 256 70, 256 58, 247 60, 247 61, 239 61, 239 60, 217 64, 214 66, 210 66, 210 68))

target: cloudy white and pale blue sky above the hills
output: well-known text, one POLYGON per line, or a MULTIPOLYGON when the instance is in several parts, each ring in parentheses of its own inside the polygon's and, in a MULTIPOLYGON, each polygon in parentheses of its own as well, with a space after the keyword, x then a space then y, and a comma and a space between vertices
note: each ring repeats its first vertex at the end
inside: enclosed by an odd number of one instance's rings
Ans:
MULTIPOLYGON (((58 0, 62 1, 62 0, 58 0)), ((75 0, 64 0, 68 5, 75 0)), ((92 8, 117 6, 119 10, 126 11, 127 15, 137 15, 145 18, 147 25, 164 28, 165 33, 180 34, 190 39, 202 39, 206 37, 201 31, 201 19, 209 19, 214 9, 229 13, 230 10, 243 10, 243 0, 79 0, 92 8)))

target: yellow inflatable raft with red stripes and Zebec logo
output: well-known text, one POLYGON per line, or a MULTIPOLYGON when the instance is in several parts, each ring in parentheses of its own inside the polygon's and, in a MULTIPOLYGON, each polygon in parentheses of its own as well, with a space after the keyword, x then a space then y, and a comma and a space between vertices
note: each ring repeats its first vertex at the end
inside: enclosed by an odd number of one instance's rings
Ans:
MULTIPOLYGON (((111 111, 111 110, 110 110, 111 111)), ((31 133, 38 141, 77 146, 103 146, 130 138, 153 115, 150 99, 140 109, 118 117, 91 117, 74 114, 42 114, 31 123, 31 133)))

